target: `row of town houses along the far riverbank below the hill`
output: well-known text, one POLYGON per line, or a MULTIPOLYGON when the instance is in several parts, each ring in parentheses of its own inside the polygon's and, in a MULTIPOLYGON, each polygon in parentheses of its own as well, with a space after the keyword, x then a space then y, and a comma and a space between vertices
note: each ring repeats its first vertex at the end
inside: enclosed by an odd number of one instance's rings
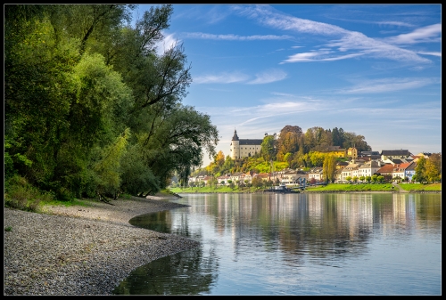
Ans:
MULTIPOLYGON (((382 150, 360 151, 355 148, 348 150, 340 147, 332 147, 330 150, 339 158, 347 158, 347 161, 337 162, 335 165, 335 183, 344 182, 372 182, 378 176, 382 176, 382 182, 417 182, 416 169, 419 159, 426 161, 433 154, 420 152, 410 153, 409 150, 382 150)), ((439 154, 434 154, 438 156, 439 154)), ((302 182, 317 183, 326 182, 323 167, 316 166, 304 171, 302 168, 287 168, 281 171, 269 173, 237 172, 234 174, 224 174, 216 178, 219 185, 252 184, 255 179, 263 182, 285 183, 293 185, 302 182)), ((211 175, 197 175, 189 177, 189 186, 205 186, 213 179, 211 175)), ((427 180, 427 179, 425 179, 427 180)), ((441 174, 438 181, 441 180, 441 174)))

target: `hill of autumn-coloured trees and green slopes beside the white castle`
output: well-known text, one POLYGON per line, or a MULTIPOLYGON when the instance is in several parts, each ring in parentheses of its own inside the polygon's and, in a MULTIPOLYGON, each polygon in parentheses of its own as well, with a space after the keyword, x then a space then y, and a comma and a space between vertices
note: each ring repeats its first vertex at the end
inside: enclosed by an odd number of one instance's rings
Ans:
POLYGON ((232 159, 219 151, 209 166, 194 170, 193 175, 219 176, 250 171, 268 173, 272 168, 276 171, 299 167, 309 169, 312 166, 333 168, 337 161, 345 159, 335 158, 327 152, 332 146, 343 149, 354 146, 358 151, 372 150, 363 135, 345 132, 343 128, 324 129, 316 126, 303 133, 300 126, 285 126, 277 138, 274 135, 266 135, 260 153, 253 157, 232 159))

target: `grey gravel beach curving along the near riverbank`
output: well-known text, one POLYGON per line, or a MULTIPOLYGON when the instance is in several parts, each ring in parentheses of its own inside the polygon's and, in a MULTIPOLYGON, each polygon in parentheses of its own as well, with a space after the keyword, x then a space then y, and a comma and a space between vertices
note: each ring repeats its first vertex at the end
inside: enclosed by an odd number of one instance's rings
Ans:
POLYGON ((86 203, 48 206, 43 214, 4 208, 4 295, 112 295, 137 267, 199 246, 128 223, 136 215, 184 207, 169 199, 86 203))

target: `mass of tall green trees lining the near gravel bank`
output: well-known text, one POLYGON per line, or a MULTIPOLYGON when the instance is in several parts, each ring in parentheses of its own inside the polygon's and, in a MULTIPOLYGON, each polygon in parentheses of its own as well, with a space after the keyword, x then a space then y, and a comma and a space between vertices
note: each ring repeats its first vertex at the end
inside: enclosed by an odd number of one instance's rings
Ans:
POLYGON ((182 45, 156 52, 172 6, 153 6, 131 23, 135 8, 4 5, 11 204, 153 194, 173 174, 185 181, 203 150, 216 154, 210 117, 182 104, 192 82, 182 45))

